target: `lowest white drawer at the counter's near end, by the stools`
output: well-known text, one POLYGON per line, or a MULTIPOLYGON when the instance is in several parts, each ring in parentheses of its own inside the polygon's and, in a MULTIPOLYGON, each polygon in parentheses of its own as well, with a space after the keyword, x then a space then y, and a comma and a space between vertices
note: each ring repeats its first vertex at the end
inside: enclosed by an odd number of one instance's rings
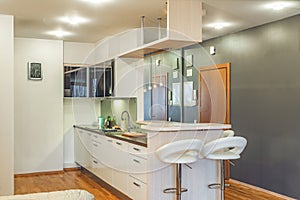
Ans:
POLYGON ((147 185, 132 176, 128 178, 128 194, 133 200, 147 199, 147 185))

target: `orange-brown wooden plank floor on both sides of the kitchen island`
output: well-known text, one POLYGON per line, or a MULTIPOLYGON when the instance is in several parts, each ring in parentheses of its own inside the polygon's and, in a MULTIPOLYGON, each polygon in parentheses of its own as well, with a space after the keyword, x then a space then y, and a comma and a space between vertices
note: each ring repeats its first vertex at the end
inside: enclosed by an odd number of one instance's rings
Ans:
MULTIPOLYGON (((226 200, 286 200, 272 193, 247 187, 235 181, 225 190, 226 200)), ((95 196, 95 200, 120 200, 108 190, 94 182, 81 171, 67 171, 64 173, 17 176, 15 177, 15 194, 35 192, 50 192, 66 189, 84 189, 95 196)), ((141 199, 142 200, 142 199, 141 199)))

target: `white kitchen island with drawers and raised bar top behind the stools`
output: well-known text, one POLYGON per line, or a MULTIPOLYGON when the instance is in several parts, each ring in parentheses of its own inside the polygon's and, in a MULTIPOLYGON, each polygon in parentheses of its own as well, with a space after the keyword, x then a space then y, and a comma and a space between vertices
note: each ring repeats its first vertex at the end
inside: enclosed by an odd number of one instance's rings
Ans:
MULTIPOLYGON (((141 126, 145 136, 134 138, 75 126, 75 161, 129 199, 172 200, 174 195, 163 189, 175 186, 174 166, 158 160, 156 149, 183 139, 208 142, 229 128, 225 124, 151 122, 141 126)), ((219 190, 207 187, 218 182, 217 162, 199 159, 189 165, 192 169, 183 166, 182 186, 188 192, 182 199, 218 199, 219 190)))

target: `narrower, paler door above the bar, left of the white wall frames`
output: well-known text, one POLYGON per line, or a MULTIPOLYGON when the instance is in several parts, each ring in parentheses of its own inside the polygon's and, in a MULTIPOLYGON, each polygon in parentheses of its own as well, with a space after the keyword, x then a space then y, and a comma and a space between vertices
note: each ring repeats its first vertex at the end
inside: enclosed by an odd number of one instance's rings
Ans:
POLYGON ((152 120, 167 120, 167 76, 152 77, 152 120))

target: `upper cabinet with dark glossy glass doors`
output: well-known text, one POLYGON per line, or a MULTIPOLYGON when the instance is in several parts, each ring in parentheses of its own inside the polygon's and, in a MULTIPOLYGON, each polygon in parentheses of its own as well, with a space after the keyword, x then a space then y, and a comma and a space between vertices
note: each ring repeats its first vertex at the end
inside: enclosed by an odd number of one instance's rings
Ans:
POLYGON ((64 97, 110 97, 114 89, 114 60, 97 65, 64 65, 64 97))

